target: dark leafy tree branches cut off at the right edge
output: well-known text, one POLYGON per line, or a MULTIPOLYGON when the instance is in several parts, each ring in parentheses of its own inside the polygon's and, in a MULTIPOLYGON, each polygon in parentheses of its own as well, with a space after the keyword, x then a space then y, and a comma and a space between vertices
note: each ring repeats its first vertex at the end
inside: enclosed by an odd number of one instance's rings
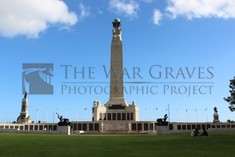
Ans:
POLYGON ((228 108, 233 112, 235 111, 235 77, 233 80, 230 80, 229 88, 230 96, 224 98, 224 100, 229 103, 228 108))

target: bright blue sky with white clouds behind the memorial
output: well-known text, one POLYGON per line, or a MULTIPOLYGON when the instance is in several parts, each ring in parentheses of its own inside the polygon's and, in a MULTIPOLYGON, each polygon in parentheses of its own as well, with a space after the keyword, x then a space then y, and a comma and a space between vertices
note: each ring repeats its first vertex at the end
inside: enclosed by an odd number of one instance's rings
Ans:
POLYGON ((145 93, 125 95, 128 103, 136 101, 140 120, 162 117, 168 104, 171 121, 212 121, 215 106, 221 121, 234 120, 223 100, 229 94, 229 80, 235 76, 234 10, 233 0, 0 0, 0 122, 12 122, 19 115, 23 63, 54 65, 54 94, 28 96, 34 121, 57 121, 55 112, 71 120, 91 120, 93 100, 105 104, 109 95, 62 94, 61 86, 62 82, 79 81, 106 82, 90 85, 108 86, 103 66, 110 65, 111 22, 116 17, 122 21, 124 64, 130 74, 130 78, 124 76, 125 82, 151 82, 126 87, 158 86, 157 94, 145 89, 145 93), (84 78, 78 75, 74 79, 70 71, 65 79, 61 65, 84 67, 84 78), (140 69, 141 78, 131 77, 133 67, 140 69), (166 77, 166 69, 172 70, 174 78, 166 77), (193 72, 192 78, 187 69, 193 72), (159 72, 161 78, 156 78, 159 72), (164 85, 177 90, 213 88, 211 93, 188 96, 164 93, 164 85))

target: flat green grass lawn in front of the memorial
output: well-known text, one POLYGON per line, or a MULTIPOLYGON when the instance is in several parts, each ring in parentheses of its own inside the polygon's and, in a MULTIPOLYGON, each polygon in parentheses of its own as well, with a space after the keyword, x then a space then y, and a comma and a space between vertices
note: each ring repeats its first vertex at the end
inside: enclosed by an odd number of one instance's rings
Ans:
POLYGON ((233 157, 235 133, 63 136, 0 134, 0 157, 233 157))

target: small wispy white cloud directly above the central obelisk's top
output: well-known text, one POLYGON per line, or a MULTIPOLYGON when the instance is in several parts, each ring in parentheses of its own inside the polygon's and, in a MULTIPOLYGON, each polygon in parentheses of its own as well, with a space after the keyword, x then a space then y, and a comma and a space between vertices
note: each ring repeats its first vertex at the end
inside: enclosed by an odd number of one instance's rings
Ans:
POLYGON ((139 3, 134 0, 110 0, 109 6, 115 12, 129 17, 137 16, 137 10, 139 9, 139 3))

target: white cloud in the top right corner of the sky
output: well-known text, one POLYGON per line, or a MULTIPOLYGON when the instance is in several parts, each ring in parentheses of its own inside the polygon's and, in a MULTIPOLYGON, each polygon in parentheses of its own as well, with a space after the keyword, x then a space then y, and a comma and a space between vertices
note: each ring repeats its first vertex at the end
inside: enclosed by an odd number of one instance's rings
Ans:
POLYGON ((173 18, 235 18, 235 0, 168 0, 166 11, 173 18))

